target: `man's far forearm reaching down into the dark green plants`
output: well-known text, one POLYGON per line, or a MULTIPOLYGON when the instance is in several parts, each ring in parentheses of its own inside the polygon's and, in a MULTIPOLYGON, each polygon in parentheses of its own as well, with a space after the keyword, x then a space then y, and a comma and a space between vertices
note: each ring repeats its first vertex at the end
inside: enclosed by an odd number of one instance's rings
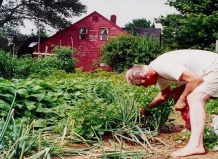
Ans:
POLYGON ((154 98, 154 100, 149 104, 149 107, 152 108, 157 106, 158 104, 165 102, 167 99, 169 99, 171 95, 171 91, 172 90, 170 86, 168 86, 164 90, 161 90, 161 92, 158 93, 158 95, 154 98))

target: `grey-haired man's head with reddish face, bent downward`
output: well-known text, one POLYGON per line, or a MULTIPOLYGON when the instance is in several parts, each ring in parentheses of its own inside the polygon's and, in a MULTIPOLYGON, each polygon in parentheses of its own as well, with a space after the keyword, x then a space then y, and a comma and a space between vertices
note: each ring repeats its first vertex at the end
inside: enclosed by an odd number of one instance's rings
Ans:
POLYGON ((157 83, 158 74, 150 66, 133 66, 126 72, 127 82, 137 86, 150 86, 157 83))

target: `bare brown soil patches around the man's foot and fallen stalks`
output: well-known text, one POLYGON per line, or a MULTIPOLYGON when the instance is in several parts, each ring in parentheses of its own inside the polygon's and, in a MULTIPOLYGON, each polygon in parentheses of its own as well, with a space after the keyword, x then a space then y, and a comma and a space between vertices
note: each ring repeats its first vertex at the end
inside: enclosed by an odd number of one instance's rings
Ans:
MULTIPOLYGON (((140 146, 136 143, 125 142, 123 145, 125 151, 145 151, 146 156, 143 157, 144 159, 168 159, 172 158, 170 153, 178 150, 186 145, 189 139, 190 132, 185 129, 184 121, 181 119, 180 114, 175 112, 172 116, 170 116, 172 122, 168 123, 168 129, 163 130, 159 135, 158 138, 166 143, 164 144, 156 144, 152 150, 152 152, 148 152, 145 148, 140 146)), ((210 122, 208 123, 210 124, 210 122)), ((105 149, 114 149, 114 143, 116 142, 112 140, 110 136, 106 136, 103 139, 103 145, 105 149), (113 145, 113 146, 112 146, 113 145)), ((153 141, 157 142, 157 141, 153 141)), ((158 141, 159 142, 159 141, 158 141)), ((160 142, 159 142, 160 143, 160 142)), ((116 143, 118 144, 118 142, 116 143)), ((82 144, 73 144, 71 145, 72 148, 84 148, 85 145, 82 144)), ((206 148, 206 154, 204 155, 193 155, 188 157, 180 157, 179 159, 218 159, 218 152, 213 152, 206 148)), ((101 150, 92 151, 96 154, 101 154, 101 150)), ((91 158, 101 158, 101 157, 90 157, 90 156, 70 156, 70 157, 62 157, 62 159, 91 159, 91 158)), ((54 157, 54 159, 59 159, 59 157, 54 157)))

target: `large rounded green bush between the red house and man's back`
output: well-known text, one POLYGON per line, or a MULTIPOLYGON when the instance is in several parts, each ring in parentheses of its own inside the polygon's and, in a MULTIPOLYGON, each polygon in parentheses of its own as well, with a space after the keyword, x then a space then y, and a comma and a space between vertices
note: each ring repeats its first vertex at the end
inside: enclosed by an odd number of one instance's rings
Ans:
POLYGON ((164 50, 159 39, 147 36, 120 35, 111 38, 101 49, 101 61, 122 72, 136 64, 149 64, 164 50))

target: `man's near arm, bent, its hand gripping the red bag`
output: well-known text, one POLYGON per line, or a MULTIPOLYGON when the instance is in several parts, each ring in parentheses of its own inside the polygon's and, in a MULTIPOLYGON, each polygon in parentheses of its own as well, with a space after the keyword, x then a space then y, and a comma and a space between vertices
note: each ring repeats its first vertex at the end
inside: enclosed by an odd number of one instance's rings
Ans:
POLYGON ((187 96, 201 83, 204 82, 204 79, 202 76, 199 76, 198 74, 195 74, 191 71, 184 71, 182 75, 179 78, 180 81, 187 82, 185 89, 183 93, 181 94, 180 98, 178 99, 176 103, 176 109, 183 109, 187 104, 187 96))

